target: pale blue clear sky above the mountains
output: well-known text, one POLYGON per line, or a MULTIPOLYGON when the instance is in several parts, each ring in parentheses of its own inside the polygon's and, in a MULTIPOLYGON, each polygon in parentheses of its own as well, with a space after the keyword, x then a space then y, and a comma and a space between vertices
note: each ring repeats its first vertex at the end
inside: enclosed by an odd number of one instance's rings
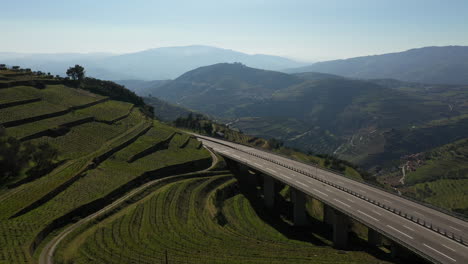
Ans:
POLYGON ((15 0, 0 51, 210 45, 304 61, 468 45, 467 0, 15 0))

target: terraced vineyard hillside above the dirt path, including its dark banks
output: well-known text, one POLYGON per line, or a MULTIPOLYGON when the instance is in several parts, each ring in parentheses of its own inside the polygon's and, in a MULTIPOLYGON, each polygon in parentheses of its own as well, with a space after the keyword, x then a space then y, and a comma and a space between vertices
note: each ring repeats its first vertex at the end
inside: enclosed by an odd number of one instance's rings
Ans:
POLYGON ((0 187, 0 263, 35 263, 38 247, 54 230, 148 180, 210 164, 198 141, 153 121, 133 104, 69 88, 60 79, 12 71, 0 75, 12 84, 46 83, 42 89, 1 88, 0 124, 8 136, 23 142, 49 143, 62 161, 40 178, 23 175, 16 187, 0 187), (57 84, 47 84, 52 82, 57 84), (170 135, 166 148, 128 162, 170 135))

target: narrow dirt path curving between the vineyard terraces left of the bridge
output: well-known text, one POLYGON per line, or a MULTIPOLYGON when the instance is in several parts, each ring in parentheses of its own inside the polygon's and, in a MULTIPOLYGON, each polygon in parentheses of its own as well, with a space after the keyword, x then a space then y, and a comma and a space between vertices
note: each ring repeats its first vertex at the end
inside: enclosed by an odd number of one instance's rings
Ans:
MULTIPOLYGON (((218 163, 218 157, 216 156, 216 154, 214 154, 210 149, 208 149, 208 148, 206 148, 206 149, 210 152, 210 155, 212 157, 211 166, 209 168, 207 168, 207 169, 204 169, 204 170, 201 170, 201 171, 198 171, 198 172, 209 171, 209 170, 211 170, 212 168, 214 168, 216 166, 216 163, 218 163)), ((192 173, 197 173, 197 172, 192 172, 192 173)), ((192 174, 192 173, 187 173, 187 174, 192 174)), ((170 177, 179 177, 179 176, 182 176, 182 175, 185 175, 185 174, 174 175, 174 176, 170 176, 170 177)), ((67 235, 69 235, 71 232, 75 231, 80 226, 88 223, 89 221, 95 219, 96 217, 106 213, 107 211, 112 210, 113 208, 120 205, 122 202, 124 202, 128 198, 132 197, 136 193, 138 193, 138 192, 140 192, 140 191, 142 191, 142 190, 144 190, 144 189, 150 187, 151 185, 154 185, 154 184, 156 184, 156 183, 158 183, 160 181, 166 180, 166 179, 168 179, 170 177, 165 177, 163 179, 157 179, 157 180, 154 180, 154 181, 147 182, 146 184, 132 190, 128 194, 122 196, 121 198, 119 198, 115 202, 109 204, 108 206, 104 207, 103 209, 101 209, 101 210, 87 216, 86 218, 83 218, 80 221, 70 225, 65 230, 63 230, 60 234, 58 234, 56 237, 54 237, 51 241, 49 241, 49 243, 47 243, 46 246, 42 249, 41 254, 39 255, 39 264, 53 264, 54 263, 53 256, 54 256, 55 250, 57 249, 57 246, 59 245, 59 243, 67 235)))

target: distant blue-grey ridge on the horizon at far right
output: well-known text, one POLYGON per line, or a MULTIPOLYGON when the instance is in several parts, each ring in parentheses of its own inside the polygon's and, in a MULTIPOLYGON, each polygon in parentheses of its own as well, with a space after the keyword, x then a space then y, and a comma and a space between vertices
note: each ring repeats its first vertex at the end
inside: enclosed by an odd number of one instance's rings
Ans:
POLYGON ((285 70, 322 72, 358 79, 398 79, 432 84, 468 84, 468 47, 446 46, 317 62, 285 70))

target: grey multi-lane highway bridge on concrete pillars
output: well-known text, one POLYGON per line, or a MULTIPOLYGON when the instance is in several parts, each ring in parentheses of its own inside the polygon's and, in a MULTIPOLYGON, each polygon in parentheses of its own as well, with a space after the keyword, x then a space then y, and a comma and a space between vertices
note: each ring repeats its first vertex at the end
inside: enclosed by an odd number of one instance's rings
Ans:
MULTIPOLYGON (((392 241, 392 253, 406 248, 432 263, 468 263, 468 223, 425 204, 329 170, 256 148, 196 135, 204 146, 244 171, 263 175, 265 205, 273 208, 275 182, 292 188, 294 224, 306 225, 306 196, 324 204, 324 221, 333 226, 333 242, 346 248, 352 218, 369 228, 368 241, 392 241)), ((252 183, 254 184, 254 183, 252 183)))

